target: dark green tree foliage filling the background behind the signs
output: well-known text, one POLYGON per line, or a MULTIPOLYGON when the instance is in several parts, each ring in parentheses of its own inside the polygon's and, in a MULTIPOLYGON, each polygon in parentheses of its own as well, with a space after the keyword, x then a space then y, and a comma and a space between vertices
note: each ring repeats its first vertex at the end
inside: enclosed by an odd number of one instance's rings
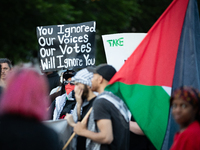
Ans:
POLYGON ((1 51, 14 63, 37 57, 37 26, 96 21, 96 64, 106 62, 101 36, 147 32, 172 0, 4 0, 1 51))

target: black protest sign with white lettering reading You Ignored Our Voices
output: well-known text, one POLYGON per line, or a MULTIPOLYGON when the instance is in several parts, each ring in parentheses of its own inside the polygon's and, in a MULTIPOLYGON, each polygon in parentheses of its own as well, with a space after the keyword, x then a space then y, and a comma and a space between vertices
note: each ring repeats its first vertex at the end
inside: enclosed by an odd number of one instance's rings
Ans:
POLYGON ((95 64, 96 22, 38 26, 39 59, 44 72, 95 64))

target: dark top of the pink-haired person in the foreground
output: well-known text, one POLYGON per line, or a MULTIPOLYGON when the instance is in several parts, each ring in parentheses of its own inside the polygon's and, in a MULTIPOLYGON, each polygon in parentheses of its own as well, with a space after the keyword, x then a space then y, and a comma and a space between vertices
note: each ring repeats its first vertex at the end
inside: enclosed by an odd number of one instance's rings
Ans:
POLYGON ((0 117, 1 150, 59 150, 58 135, 41 122, 19 115, 0 117))

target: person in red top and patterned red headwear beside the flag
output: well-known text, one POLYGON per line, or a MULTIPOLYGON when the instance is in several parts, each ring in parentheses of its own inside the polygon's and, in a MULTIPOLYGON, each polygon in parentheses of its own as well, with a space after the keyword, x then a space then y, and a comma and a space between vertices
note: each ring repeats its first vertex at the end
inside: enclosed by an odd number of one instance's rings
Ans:
POLYGON ((200 149, 200 93, 193 87, 183 86, 176 89, 170 105, 180 131, 174 136, 170 150, 200 149))

